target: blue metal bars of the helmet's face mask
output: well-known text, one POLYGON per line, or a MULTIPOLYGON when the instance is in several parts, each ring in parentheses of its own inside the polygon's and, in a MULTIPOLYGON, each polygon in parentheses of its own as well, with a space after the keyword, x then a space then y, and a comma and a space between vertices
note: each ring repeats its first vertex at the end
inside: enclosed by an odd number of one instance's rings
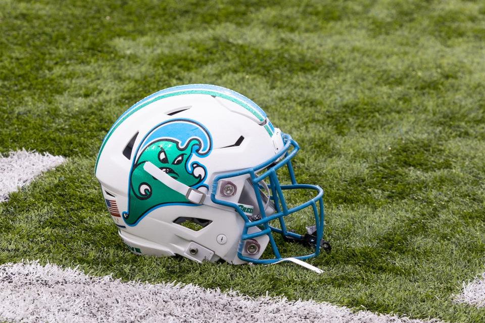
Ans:
POLYGON ((274 263, 282 259, 285 259, 285 258, 282 258, 280 255, 278 247, 276 246, 276 243, 274 241, 272 232, 281 234, 285 241, 302 242, 303 244, 311 243, 315 247, 315 251, 313 253, 304 255, 304 256, 295 256, 294 258, 304 260, 311 257, 315 257, 320 253, 320 241, 322 241, 322 237, 323 237, 323 215, 324 215, 323 199, 322 199, 323 190, 320 186, 317 186, 317 185, 297 183, 295 179, 295 174, 293 172, 293 167, 291 164, 291 159, 296 155, 300 147, 298 146, 296 141, 292 139, 291 136, 284 134, 283 138, 285 143, 283 149, 281 149, 281 151, 277 153, 274 157, 266 160, 264 163, 254 168, 236 171, 232 173, 221 174, 216 176, 214 179, 211 200, 217 204, 233 207, 239 213, 239 215, 245 220, 245 227, 241 235, 241 242, 237 252, 238 257, 244 261, 253 262, 253 263, 270 264, 270 263, 274 263), (291 184, 289 185, 280 185, 276 175, 276 171, 284 166, 287 167, 287 170, 289 173, 289 178, 291 181, 291 184), (250 181, 254 188, 254 192, 256 194, 256 199, 258 202, 258 207, 259 207, 260 216, 261 216, 261 219, 259 220, 251 221, 248 218, 248 216, 243 212, 243 210, 241 210, 238 207, 237 204, 217 199, 215 195, 215 192, 217 192, 217 185, 220 180, 225 180, 231 177, 241 176, 245 174, 250 175, 250 181), (265 183, 265 180, 269 181, 269 185, 265 183), (261 184, 261 183, 264 183, 264 184, 261 184), (268 215, 265 212, 268 200, 264 201, 263 197, 261 196, 262 195, 261 192, 266 191, 266 187, 264 187, 266 185, 269 191, 271 192, 271 196, 269 196, 269 199, 271 200, 272 204, 274 204, 274 208, 275 208, 274 213, 268 214, 268 215), (283 196, 283 191, 296 190, 296 189, 316 191, 316 196, 298 206, 288 208, 286 204, 286 200, 283 196), (317 203, 318 203, 318 206, 317 206, 317 203), (306 235, 301 235, 301 234, 288 231, 286 229, 284 217, 287 217, 289 216, 289 214, 295 213, 299 210, 302 210, 310 206, 313 210, 313 215, 315 218, 315 226, 313 227, 315 229, 314 230, 315 232, 312 232, 306 235), (275 228, 271 226, 269 223, 273 220, 278 220, 281 228, 275 228), (252 227, 258 227, 261 231, 248 233, 248 229, 252 227), (243 254, 243 249, 245 248, 245 241, 251 241, 251 239, 255 239, 263 235, 267 235, 269 237, 269 244, 273 250, 275 258, 254 259, 243 254), (313 238, 309 240, 308 239, 309 237, 313 237, 313 238))

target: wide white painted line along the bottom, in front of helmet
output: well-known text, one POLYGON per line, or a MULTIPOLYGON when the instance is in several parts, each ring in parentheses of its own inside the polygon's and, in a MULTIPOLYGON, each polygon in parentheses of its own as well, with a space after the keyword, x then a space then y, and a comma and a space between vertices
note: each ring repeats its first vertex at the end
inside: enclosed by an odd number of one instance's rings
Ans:
MULTIPOLYGON (((285 298, 250 298, 193 285, 121 282, 38 262, 0 265, 0 320, 13 322, 421 323, 285 298)), ((439 320, 429 320, 439 322, 439 320)))

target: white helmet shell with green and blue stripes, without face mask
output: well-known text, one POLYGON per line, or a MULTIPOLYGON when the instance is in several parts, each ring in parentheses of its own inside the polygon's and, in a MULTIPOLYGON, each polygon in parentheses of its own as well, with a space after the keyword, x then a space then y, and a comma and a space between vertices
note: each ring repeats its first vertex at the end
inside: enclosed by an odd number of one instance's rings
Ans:
MULTIPOLYGON (((158 164, 160 169, 220 197, 222 188, 213 187, 215 176, 259 165, 282 146, 281 132, 245 96, 213 85, 177 86, 140 100, 114 123, 103 140, 95 175, 119 234, 133 252, 244 263, 236 253, 245 221, 233 208, 190 203, 143 175, 139 165, 163 151, 157 162, 166 163, 158 164), (183 219, 206 225, 193 230, 181 225, 183 219)), ((235 192, 223 197, 237 203, 247 178, 232 178, 235 192)), ((256 240, 261 245, 254 255, 258 258, 268 238, 256 240)))

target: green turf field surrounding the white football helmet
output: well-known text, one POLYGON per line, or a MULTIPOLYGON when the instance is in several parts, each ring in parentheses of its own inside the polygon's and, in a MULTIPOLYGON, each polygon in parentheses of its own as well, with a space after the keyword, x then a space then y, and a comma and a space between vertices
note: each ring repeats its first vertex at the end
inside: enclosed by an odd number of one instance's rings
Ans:
POLYGON ((0 152, 68 158, 0 204, 0 263, 485 321, 452 302, 485 262, 484 3, 0 0, 0 35, 0 152), (300 144, 298 181, 325 190, 323 275, 121 242, 93 176, 101 141, 186 83, 245 94, 300 144))

